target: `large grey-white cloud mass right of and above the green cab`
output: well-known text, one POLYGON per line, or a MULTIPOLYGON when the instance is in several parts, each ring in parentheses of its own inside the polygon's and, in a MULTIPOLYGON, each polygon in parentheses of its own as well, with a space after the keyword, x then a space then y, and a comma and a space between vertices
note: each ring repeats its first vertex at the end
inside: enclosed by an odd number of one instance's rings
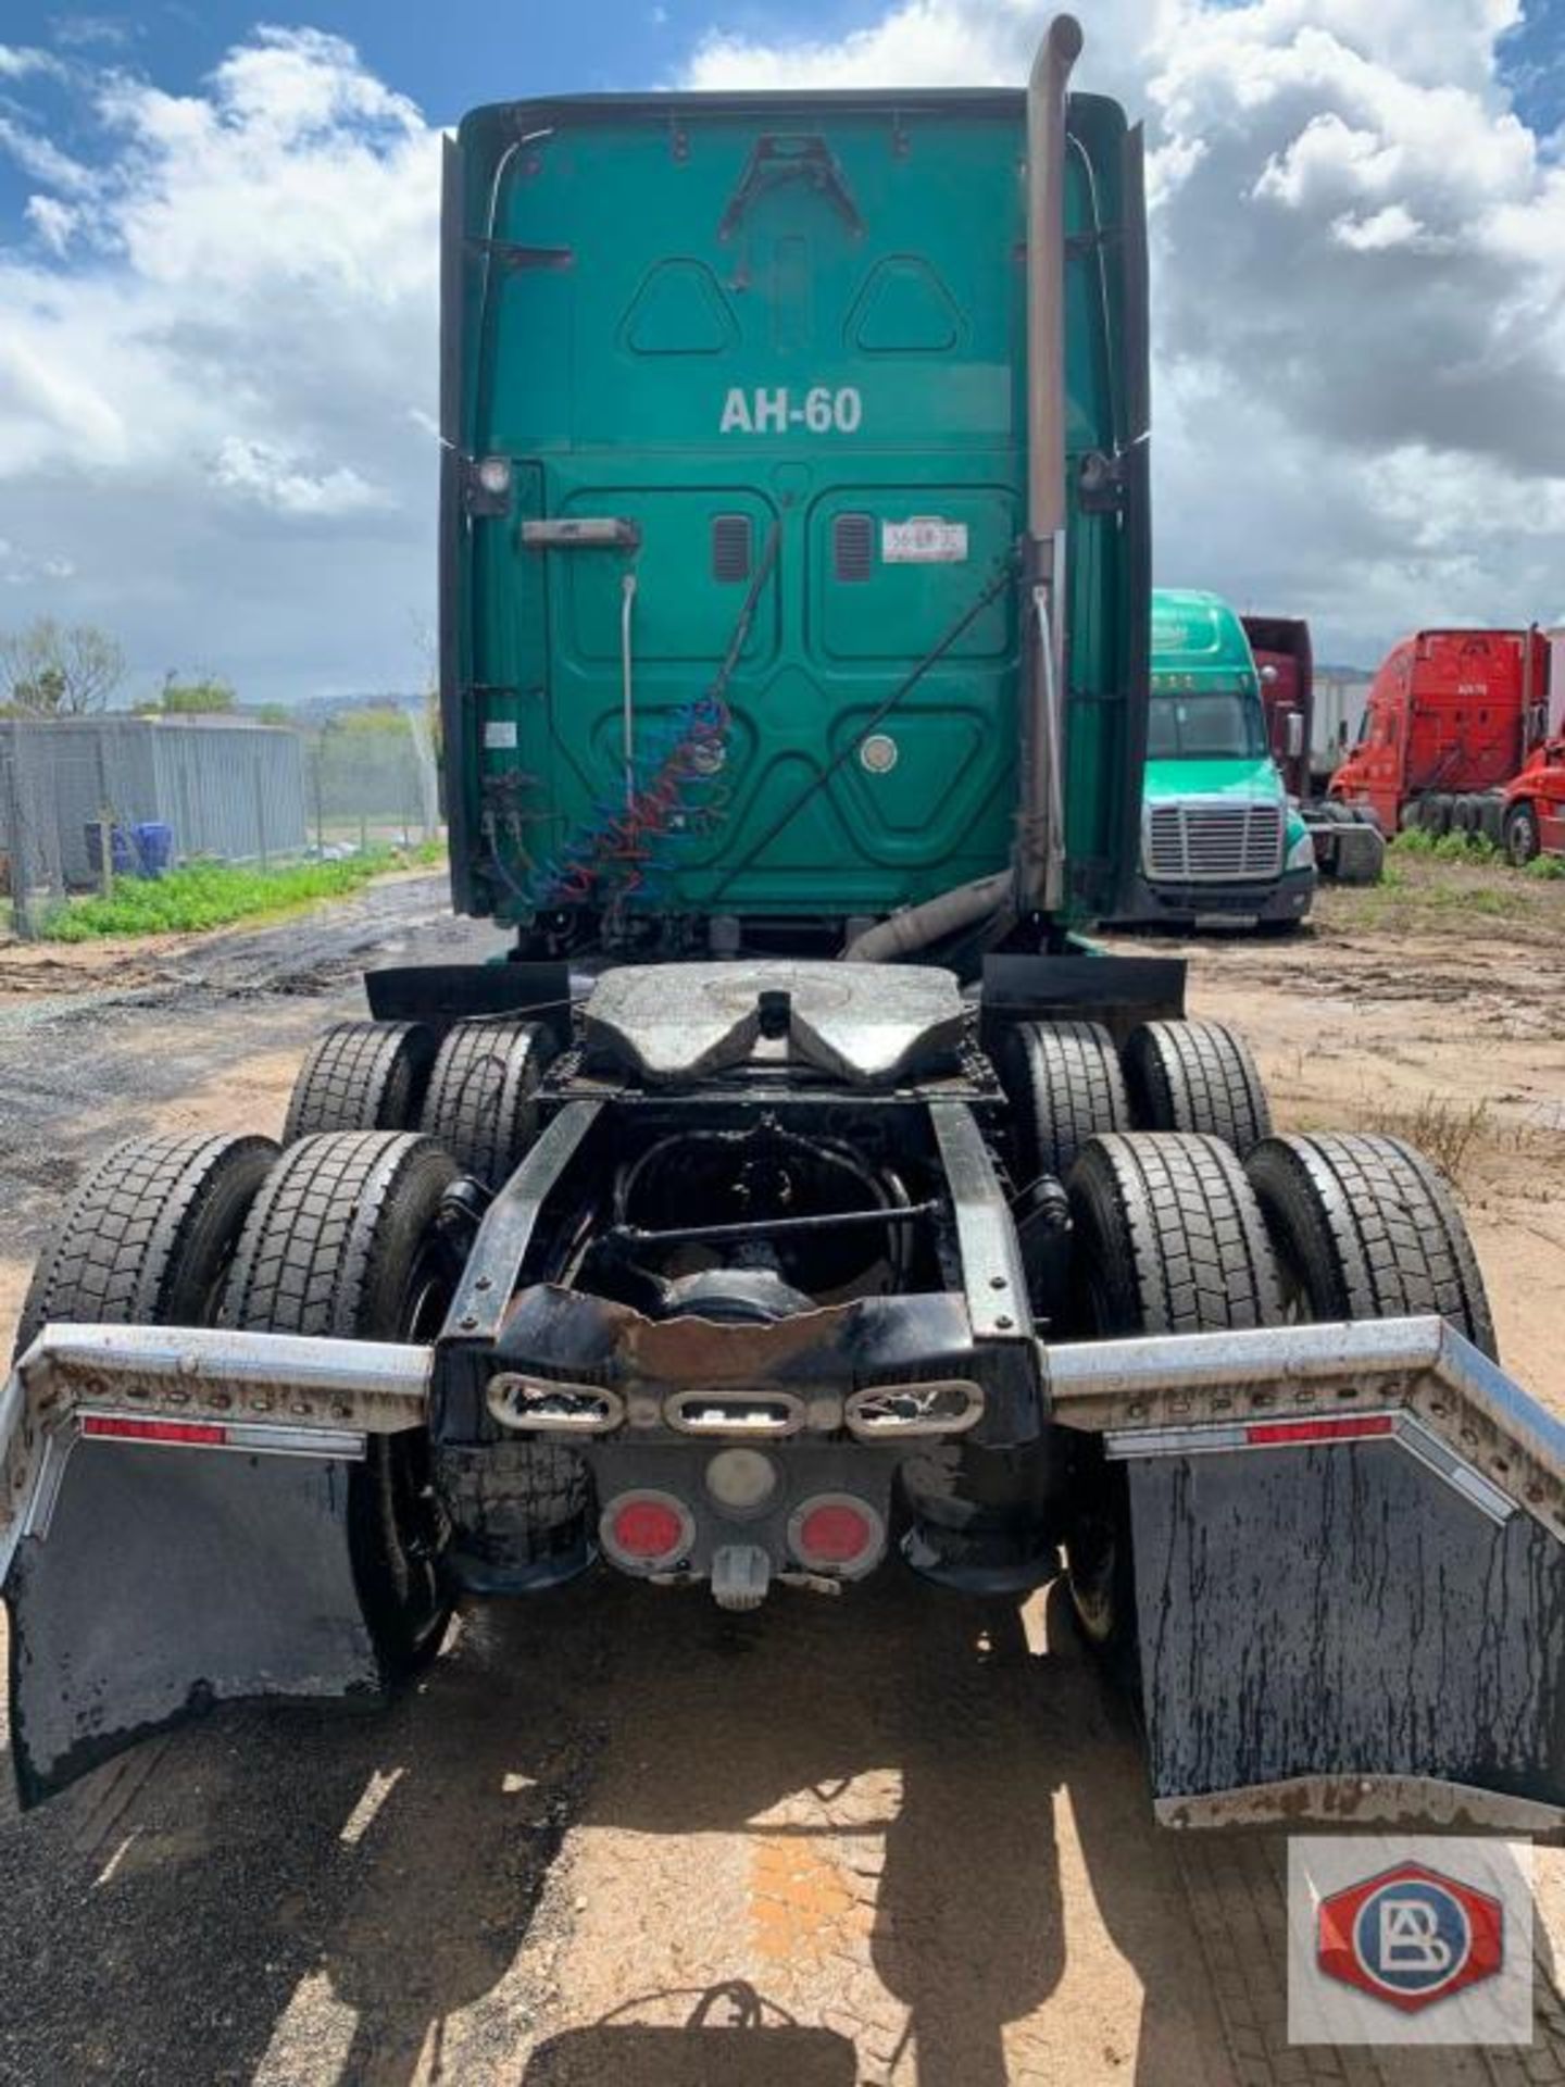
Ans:
MULTIPOLYGON (((1052 6, 901 0, 709 35, 689 86, 1027 77, 1052 6)), ((1373 659, 1548 614, 1565 568, 1565 171, 1509 106, 1517 0, 1110 0, 1077 83, 1148 117, 1158 568, 1373 659)))

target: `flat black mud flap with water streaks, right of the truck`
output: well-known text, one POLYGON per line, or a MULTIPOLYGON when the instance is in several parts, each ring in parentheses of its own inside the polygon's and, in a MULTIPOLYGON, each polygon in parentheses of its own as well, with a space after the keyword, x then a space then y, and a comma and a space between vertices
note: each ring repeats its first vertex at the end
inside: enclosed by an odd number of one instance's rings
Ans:
POLYGON ((1559 1824, 1532 1809, 1565 1805, 1540 1519, 1394 1438, 1127 1461, 1164 1824, 1559 1824))

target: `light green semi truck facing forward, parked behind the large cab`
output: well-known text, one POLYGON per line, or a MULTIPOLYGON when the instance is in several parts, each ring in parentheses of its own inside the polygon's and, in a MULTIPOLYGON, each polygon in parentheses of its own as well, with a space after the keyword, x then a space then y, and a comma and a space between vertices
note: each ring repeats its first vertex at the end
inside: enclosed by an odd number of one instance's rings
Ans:
POLYGON ((1221 595, 1152 593, 1152 703, 1131 920, 1254 918, 1287 933, 1315 899, 1315 843, 1267 737, 1260 674, 1221 595))

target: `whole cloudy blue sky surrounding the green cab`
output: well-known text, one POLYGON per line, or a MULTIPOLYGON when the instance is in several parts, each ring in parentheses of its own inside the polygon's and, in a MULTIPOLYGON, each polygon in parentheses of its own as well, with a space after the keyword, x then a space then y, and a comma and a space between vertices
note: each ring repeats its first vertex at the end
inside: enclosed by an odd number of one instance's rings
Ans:
MULTIPOLYGON (((438 129, 1025 79, 1045 0, 0 0, 0 632, 409 689, 438 129)), ((1158 576, 1373 662, 1565 614, 1565 0, 1081 0, 1152 148, 1158 576)))

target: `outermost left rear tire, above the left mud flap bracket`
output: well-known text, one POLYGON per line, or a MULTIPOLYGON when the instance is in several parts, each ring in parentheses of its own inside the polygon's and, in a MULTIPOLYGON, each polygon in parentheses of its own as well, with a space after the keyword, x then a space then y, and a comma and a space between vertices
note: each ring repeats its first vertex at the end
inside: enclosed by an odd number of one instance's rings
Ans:
POLYGON ((269 1137, 138 1137, 115 1146, 38 1256, 17 1354, 50 1319, 213 1325, 269 1137))

